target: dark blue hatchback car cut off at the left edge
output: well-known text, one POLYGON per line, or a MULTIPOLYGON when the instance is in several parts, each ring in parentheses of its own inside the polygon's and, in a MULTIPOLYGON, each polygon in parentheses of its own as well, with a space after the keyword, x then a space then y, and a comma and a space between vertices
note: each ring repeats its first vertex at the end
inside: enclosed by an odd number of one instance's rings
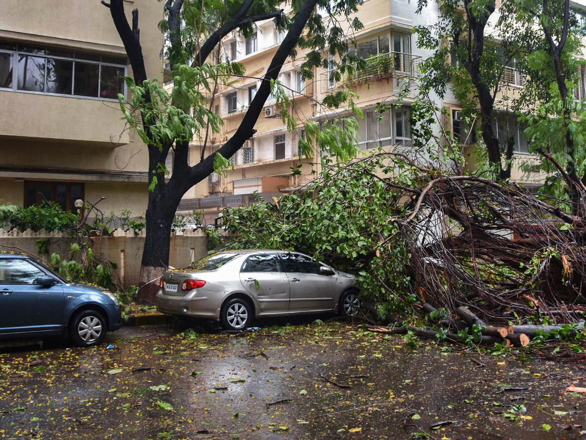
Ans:
POLYGON ((0 339, 63 336, 90 347, 121 325, 113 293, 67 283, 29 255, 0 251, 0 339))

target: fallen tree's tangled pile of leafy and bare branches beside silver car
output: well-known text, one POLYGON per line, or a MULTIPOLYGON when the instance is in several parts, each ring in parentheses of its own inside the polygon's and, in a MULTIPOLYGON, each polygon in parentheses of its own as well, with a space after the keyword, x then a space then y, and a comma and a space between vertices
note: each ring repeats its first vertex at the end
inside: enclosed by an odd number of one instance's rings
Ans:
POLYGON ((584 314, 584 219, 568 214, 567 201, 451 168, 381 150, 330 165, 308 191, 227 212, 231 244, 333 260, 360 275, 379 317, 424 303, 441 310, 438 322, 459 306, 499 325, 584 314))

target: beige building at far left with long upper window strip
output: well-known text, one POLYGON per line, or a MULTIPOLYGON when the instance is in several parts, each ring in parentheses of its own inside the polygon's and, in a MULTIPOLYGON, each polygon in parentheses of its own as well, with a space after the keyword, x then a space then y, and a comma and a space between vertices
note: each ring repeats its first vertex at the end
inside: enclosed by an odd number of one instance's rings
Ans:
MULTIPOLYGON (((148 153, 125 129, 118 93, 131 75, 110 11, 100 1, 5 0, 0 17, 0 204, 43 200, 108 214, 147 208, 148 153)), ((158 2, 125 0, 140 12, 149 76, 161 76, 158 2)))

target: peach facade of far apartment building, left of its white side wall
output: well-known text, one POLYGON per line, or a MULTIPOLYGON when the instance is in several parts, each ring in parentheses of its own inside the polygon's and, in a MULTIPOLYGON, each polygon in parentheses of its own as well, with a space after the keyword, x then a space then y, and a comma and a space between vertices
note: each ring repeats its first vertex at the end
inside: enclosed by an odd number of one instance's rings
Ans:
MULTIPOLYGON (((347 117, 343 111, 325 109, 319 103, 326 94, 340 86, 351 87, 357 94, 356 103, 364 112, 359 119, 358 144, 362 150, 376 145, 384 147, 410 142, 410 99, 398 103, 396 96, 406 80, 417 72, 417 65, 428 56, 415 45, 411 35, 413 26, 435 22, 438 6, 432 3, 421 15, 415 15, 416 2, 412 0, 367 0, 359 6, 357 16, 364 28, 355 33, 357 55, 369 59, 369 67, 359 74, 337 84, 330 80, 331 69, 316 68, 314 78, 305 80, 299 67, 304 53, 297 59, 288 59, 282 66, 279 80, 292 102, 289 113, 297 119, 298 129, 287 130, 275 100, 267 100, 263 113, 255 124, 254 137, 231 158, 234 169, 227 176, 212 174, 209 180, 200 182, 183 198, 179 211, 205 211, 206 222, 213 221, 224 207, 247 205, 258 197, 270 199, 294 191, 308 184, 321 171, 320 155, 314 150, 312 157, 299 158, 299 139, 304 138, 306 120, 323 122, 335 117, 347 117), (402 104, 389 110, 383 120, 377 121, 374 107, 380 101, 402 104), (301 175, 292 175, 298 168, 301 175)), ((245 77, 234 82, 214 98, 214 110, 224 120, 222 133, 208 139, 208 146, 217 148, 236 131, 260 86, 272 56, 276 52, 284 32, 275 28, 274 21, 257 23, 257 32, 248 39, 243 36, 227 36, 223 40, 223 53, 231 60, 243 64, 245 77)), ((327 56, 327 55, 326 55, 327 56)), ((202 148, 200 140, 190 150, 192 160, 199 160, 202 148)))

